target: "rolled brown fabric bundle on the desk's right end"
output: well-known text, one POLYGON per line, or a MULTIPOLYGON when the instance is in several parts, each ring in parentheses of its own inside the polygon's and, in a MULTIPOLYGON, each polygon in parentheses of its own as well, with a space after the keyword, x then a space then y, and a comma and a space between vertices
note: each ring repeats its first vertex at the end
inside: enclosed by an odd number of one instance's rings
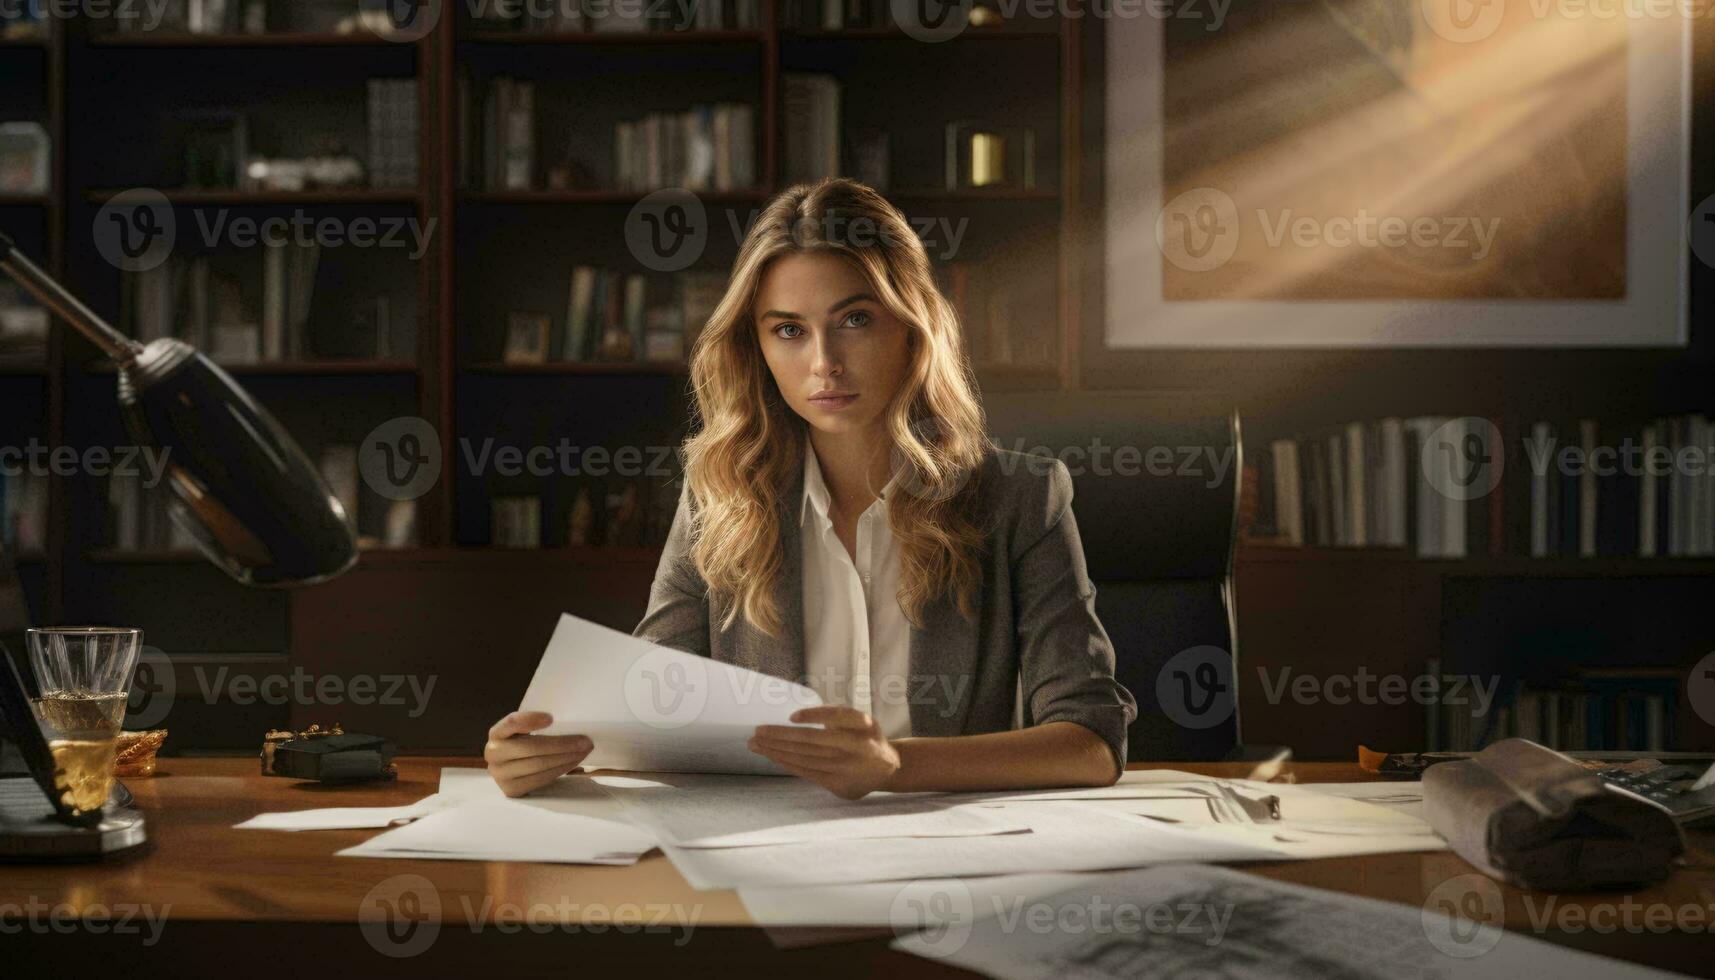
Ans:
POLYGON ((1686 851, 1665 810, 1525 738, 1430 765, 1423 810, 1461 858, 1538 891, 1660 880, 1686 851))

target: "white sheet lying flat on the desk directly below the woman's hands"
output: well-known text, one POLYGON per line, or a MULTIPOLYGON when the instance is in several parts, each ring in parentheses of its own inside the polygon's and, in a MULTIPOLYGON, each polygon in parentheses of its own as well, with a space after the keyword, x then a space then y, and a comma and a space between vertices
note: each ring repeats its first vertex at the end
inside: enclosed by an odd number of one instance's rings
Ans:
MULTIPOLYGON (((602 779, 602 777, 599 777, 602 779)), ((681 848, 753 848, 873 838, 974 838, 1029 827, 938 793, 840 800, 803 779, 672 774, 665 786, 605 784, 631 822, 681 848)))

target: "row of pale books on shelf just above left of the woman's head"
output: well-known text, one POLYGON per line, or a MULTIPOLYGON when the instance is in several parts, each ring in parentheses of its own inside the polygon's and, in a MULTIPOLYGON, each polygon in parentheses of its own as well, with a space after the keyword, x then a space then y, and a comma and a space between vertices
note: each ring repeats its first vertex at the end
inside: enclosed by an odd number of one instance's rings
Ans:
POLYGON ((614 182, 623 191, 756 185, 756 110, 746 103, 652 112, 614 125, 614 182))

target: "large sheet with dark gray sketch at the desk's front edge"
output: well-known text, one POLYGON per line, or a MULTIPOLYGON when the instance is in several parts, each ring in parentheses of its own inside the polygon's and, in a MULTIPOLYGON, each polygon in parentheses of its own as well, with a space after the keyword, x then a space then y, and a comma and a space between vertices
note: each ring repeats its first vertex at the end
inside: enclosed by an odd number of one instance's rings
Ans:
POLYGON ((897 939, 895 949, 1000 980, 1665 977, 1418 906, 1207 865, 1103 875, 1026 899, 1012 906, 1017 915, 978 918, 957 889, 907 892, 902 904, 924 929, 897 939))

